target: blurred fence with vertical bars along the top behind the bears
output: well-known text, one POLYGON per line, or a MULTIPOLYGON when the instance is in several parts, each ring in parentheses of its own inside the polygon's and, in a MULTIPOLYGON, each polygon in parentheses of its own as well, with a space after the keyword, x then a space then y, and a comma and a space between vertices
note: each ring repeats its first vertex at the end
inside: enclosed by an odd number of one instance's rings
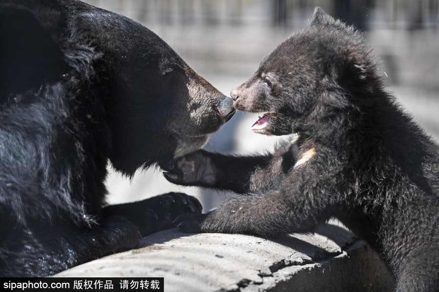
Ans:
POLYGON ((363 28, 437 29, 438 0, 88 0, 142 23, 295 26, 315 6, 363 28))

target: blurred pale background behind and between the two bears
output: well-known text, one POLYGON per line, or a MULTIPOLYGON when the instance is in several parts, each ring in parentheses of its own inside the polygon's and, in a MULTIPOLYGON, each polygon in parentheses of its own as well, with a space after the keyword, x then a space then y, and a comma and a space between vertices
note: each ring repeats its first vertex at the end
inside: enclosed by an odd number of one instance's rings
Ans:
MULTIPOLYGON (((390 90, 439 141, 439 0, 86 0, 139 21, 163 38, 226 95, 249 78, 281 41, 306 27, 315 6, 366 32, 390 90)), ((257 115, 235 114, 206 146, 221 153, 261 153, 279 139, 251 132, 257 115)), ((204 210, 231 194, 168 183, 160 169, 130 181, 111 170, 109 203, 179 191, 204 210)))

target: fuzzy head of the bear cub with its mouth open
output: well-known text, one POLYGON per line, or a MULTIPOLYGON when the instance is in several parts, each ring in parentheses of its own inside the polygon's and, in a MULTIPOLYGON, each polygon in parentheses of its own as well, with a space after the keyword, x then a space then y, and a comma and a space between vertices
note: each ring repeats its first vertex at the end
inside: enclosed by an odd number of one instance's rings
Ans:
POLYGON ((367 105, 381 87, 374 64, 361 32, 317 7, 308 27, 279 44, 231 96, 237 110, 265 112, 255 132, 301 132, 316 117, 367 105))

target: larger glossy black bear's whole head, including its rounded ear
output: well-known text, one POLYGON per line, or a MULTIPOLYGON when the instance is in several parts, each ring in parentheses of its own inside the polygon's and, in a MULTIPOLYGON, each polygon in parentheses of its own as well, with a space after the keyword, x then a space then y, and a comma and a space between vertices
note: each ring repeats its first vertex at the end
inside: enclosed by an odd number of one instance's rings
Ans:
POLYGON ((0 4, 0 103, 63 82, 75 112, 67 123, 96 132, 76 137, 121 172, 198 150, 235 112, 140 23, 80 1, 24 2, 0 4))

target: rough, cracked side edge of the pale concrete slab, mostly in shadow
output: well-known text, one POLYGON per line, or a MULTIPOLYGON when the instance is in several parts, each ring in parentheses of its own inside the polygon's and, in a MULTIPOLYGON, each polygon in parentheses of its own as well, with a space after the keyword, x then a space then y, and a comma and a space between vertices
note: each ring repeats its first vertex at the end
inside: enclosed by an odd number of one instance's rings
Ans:
POLYGON ((343 253, 302 266, 287 266, 264 276, 262 284, 250 283, 238 290, 221 292, 393 292, 395 280, 378 255, 362 240, 343 253))

